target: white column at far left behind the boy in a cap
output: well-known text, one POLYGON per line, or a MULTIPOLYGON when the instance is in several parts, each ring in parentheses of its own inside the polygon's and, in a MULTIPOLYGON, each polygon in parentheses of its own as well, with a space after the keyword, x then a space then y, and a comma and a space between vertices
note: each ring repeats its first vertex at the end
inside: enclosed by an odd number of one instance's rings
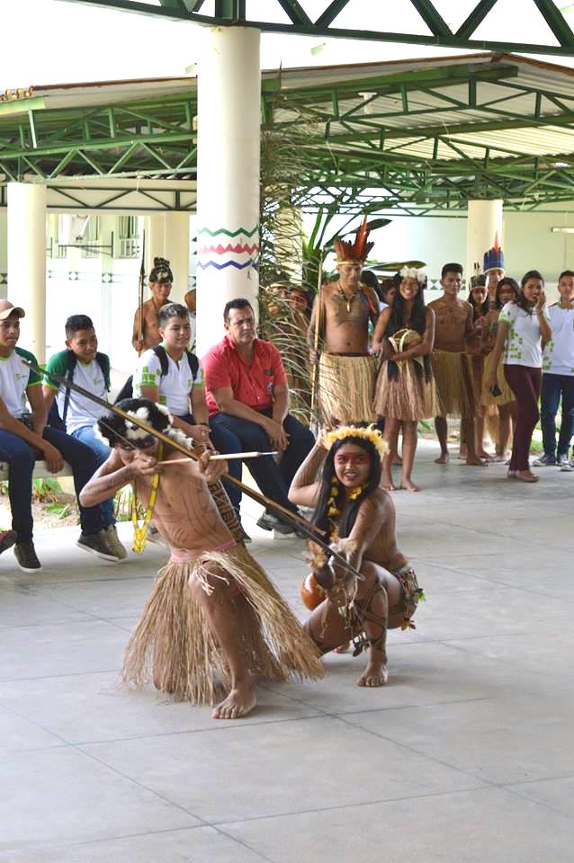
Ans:
POLYGON ((46 360, 46 187, 8 183, 8 298, 22 306, 22 348, 46 360))

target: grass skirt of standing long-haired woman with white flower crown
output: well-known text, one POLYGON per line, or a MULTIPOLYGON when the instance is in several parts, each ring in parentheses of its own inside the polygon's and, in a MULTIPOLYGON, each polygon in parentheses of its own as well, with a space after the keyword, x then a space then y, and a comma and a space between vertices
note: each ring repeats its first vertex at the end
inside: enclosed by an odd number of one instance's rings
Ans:
POLYGON ((393 420, 413 422, 426 420, 438 414, 435 381, 426 383, 424 373, 418 371, 413 360, 399 362, 397 378, 389 379, 389 364, 381 365, 374 396, 374 409, 379 416, 393 420))

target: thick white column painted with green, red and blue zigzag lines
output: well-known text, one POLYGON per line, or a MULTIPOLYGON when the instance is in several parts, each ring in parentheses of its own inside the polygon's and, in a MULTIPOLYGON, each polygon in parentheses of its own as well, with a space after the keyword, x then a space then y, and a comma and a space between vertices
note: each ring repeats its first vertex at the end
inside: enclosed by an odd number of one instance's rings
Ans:
POLYGON ((198 66, 198 354, 223 335, 223 307, 245 297, 257 310, 259 280, 259 31, 202 32, 198 66))

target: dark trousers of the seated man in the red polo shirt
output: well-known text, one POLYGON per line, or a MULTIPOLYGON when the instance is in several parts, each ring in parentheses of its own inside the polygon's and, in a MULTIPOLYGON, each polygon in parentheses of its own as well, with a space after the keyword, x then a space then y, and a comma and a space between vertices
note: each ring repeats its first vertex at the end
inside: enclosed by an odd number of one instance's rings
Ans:
MULTIPOLYGON (((265 416, 271 416, 271 410, 264 411, 265 416)), ((215 414, 211 417, 213 427, 226 429, 234 438, 236 451, 267 452, 273 449, 266 432, 257 423, 241 420, 238 416, 231 414, 215 414)), ((313 448, 313 435, 299 420, 291 414, 287 414, 283 421, 283 429, 289 435, 289 446, 283 452, 281 462, 277 464, 273 456, 264 458, 251 458, 247 466, 266 497, 271 498, 274 503, 279 503, 291 512, 296 512, 297 507, 291 503, 287 494, 293 476, 297 473, 300 464, 307 458, 313 448)))

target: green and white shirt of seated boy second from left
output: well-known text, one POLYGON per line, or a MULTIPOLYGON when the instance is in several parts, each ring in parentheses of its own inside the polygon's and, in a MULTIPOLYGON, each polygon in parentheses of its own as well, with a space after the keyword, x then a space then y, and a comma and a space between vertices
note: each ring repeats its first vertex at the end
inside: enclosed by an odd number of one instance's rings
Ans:
MULTIPOLYGON (((59 351, 59 353, 55 353, 53 357, 49 358, 46 371, 53 372, 55 375, 60 375, 62 378, 66 378, 67 369, 69 368, 68 361, 69 351, 59 351)), ((108 368, 110 368, 109 360, 108 368)), ((58 414, 63 417, 64 401, 66 399, 65 387, 58 387, 58 384, 54 383, 54 381, 50 380, 48 377, 45 377, 43 382, 47 387, 58 390, 58 396, 56 396, 58 401, 58 414)), ((104 376, 100 363, 97 360, 92 360, 91 362, 82 362, 82 360, 77 360, 72 375, 72 383, 87 389, 87 391, 93 393, 94 396, 99 396, 100 398, 107 400, 108 390, 110 389, 110 379, 109 377, 104 376)), ((78 393, 70 390, 66 414, 66 431, 68 434, 71 434, 72 432, 76 432, 76 429, 81 429, 85 425, 94 425, 96 420, 99 420, 101 416, 107 413, 108 412, 102 405, 96 405, 96 403, 90 401, 89 398, 80 396, 78 393)))

